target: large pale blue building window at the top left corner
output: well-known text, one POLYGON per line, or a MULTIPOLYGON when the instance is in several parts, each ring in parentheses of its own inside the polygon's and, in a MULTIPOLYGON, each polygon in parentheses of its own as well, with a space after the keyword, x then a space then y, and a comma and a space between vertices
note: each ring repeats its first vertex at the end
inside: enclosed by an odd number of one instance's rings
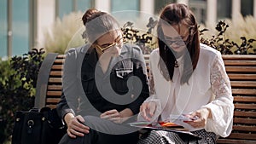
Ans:
POLYGON ((30 49, 30 0, 0 2, 0 57, 23 55, 30 49), (9 32, 8 32, 9 31, 9 32))

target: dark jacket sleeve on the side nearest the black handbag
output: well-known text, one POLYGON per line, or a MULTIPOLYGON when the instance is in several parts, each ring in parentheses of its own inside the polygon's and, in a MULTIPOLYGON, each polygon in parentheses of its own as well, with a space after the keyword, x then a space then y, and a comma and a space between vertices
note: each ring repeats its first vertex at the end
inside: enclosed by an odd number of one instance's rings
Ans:
POLYGON ((79 105, 76 58, 77 53, 75 49, 67 52, 63 66, 61 101, 57 104, 57 112, 61 118, 64 118, 68 112, 75 115, 79 105))

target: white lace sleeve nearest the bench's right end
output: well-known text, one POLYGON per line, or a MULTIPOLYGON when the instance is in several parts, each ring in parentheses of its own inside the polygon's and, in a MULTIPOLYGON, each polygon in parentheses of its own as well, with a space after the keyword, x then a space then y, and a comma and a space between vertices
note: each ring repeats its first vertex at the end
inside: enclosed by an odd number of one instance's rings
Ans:
POLYGON ((234 104, 231 92, 230 79, 225 72, 224 61, 220 54, 212 62, 211 84, 215 99, 204 108, 212 112, 212 118, 207 119, 205 129, 217 135, 227 137, 233 126, 234 104))

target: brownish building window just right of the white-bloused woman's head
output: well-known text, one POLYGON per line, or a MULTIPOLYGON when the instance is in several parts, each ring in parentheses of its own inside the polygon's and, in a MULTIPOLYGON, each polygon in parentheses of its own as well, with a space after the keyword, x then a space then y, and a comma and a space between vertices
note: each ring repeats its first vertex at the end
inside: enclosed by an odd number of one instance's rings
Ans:
POLYGON ((207 0, 190 0, 189 8, 195 14, 199 24, 205 24, 207 20, 207 0))

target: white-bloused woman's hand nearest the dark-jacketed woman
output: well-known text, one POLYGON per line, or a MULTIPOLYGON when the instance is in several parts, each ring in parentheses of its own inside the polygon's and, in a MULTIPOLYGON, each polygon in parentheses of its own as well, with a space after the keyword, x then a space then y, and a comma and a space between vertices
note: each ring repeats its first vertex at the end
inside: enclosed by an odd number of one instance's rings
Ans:
POLYGON ((142 104, 140 112, 144 119, 151 121, 151 118, 154 116, 155 109, 156 103, 154 101, 148 101, 142 104))

